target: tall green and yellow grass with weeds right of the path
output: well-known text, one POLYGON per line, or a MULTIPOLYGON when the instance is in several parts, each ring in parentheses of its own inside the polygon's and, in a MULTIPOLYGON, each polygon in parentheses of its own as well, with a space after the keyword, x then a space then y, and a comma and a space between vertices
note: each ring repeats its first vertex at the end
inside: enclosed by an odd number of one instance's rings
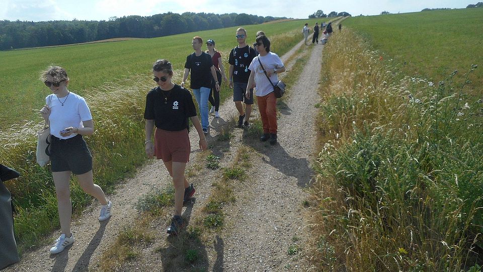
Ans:
POLYGON ((437 84, 407 77, 349 29, 324 52, 316 264, 460 271, 481 263, 473 250, 481 245, 483 107, 464 92, 468 74, 437 84))

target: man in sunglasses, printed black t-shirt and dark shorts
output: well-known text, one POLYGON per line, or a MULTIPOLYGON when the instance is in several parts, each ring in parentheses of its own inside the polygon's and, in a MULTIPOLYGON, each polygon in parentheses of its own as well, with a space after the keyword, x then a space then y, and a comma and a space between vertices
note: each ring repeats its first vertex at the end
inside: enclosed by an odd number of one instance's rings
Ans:
POLYGON ((252 113, 253 105, 253 88, 250 89, 250 99, 245 96, 247 90, 248 78, 250 77, 250 70, 248 67, 256 56, 255 49, 250 47, 245 40, 247 39, 247 31, 240 27, 236 30, 236 41, 238 45, 231 49, 228 63, 229 68, 229 86, 233 88, 233 102, 235 102, 238 110, 238 127, 248 127, 250 125, 250 114, 252 113), (241 101, 245 102, 245 112, 241 101), (243 120, 245 119, 245 123, 243 120))

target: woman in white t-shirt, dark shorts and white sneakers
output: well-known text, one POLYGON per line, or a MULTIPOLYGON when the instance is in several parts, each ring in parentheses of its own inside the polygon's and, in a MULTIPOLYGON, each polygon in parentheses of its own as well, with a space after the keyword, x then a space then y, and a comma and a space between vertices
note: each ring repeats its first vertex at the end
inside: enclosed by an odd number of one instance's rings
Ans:
POLYGON ((99 221, 111 217, 111 201, 104 191, 94 184, 92 156, 83 135, 92 135, 94 123, 91 111, 82 96, 69 92, 69 78, 64 69, 50 66, 43 72, 42 80, 52 94, 45 99, 46 105, 40 110, 45 124, 50 126, 50 162, 55 183, 59 211, 61 235, 55 241, 50 253, 59 253, 74 242, 70 232, 72 203, 70 202, 70 174, 77 176, 82 189, 101 202, 99 221))

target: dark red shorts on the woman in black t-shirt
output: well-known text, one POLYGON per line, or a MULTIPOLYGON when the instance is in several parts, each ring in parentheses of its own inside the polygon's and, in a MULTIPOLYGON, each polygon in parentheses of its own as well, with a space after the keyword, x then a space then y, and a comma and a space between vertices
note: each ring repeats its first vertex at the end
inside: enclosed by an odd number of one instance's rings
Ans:
POLYGON ((191 144, 188 129, 167 131, 156 128, 154 131, 154 155, 164 162, 190 161, 191 144))

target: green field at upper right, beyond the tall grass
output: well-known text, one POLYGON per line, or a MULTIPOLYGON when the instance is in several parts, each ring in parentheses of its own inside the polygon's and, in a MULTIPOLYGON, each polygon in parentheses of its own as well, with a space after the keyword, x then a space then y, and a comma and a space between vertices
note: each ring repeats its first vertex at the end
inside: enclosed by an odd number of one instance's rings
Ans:
MULTIPOLYGON (((358 16, 343 25, 361 33, 406 74, 433 82, 443 79, 445 69, 446 75, 454 70, 464 74, 471 64, 483 65, 483 9, 358 16)), ((483 69, 470 80, 468 87, 480 92, 483 69)))

